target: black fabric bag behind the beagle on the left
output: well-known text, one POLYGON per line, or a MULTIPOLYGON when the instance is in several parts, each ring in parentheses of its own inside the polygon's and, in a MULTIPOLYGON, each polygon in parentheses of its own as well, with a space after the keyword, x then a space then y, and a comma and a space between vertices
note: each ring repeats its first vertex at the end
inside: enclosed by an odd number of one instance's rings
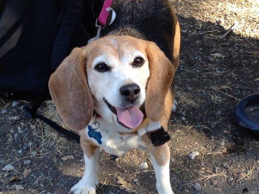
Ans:
POLYGON ((96 34, 101 8, 98 0, 0 0, 1 97, 35 100, 26 111, 41 116, 35 113, 50 99, 50 75, 96 34))

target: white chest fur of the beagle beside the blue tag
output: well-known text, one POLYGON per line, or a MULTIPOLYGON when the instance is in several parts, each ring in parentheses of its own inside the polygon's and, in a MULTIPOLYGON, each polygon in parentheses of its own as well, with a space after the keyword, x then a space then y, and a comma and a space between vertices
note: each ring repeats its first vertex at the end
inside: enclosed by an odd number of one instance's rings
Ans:
MULTIPOLYGON (((140 138, 138 137, 137 133, 134 134, 127 134, 127 133, 120 133, 121 126, 118 126, 116 123, 107 123, 102 120, 98 120, 100 123, 100 127, 96 129, 96 132, 100 132, 102 135, 101 141, 102 143, 98 143, 98 141, 90 137, 88 134, 89 129, 85 129, 85 135, 87 139, 91 140, 97 146, 100 146, 104 149, 107 153, 121 156, 125 152, 136 149, 140 147, 140 138), (119 128, 119 129, 118 129, 119 128)), ((91 120, 90 124, 93 123, 91 120)), ((93 125, 93 128, 96 127, 93 125)), ((129 130, 129 129, 127 129, 129 130)))

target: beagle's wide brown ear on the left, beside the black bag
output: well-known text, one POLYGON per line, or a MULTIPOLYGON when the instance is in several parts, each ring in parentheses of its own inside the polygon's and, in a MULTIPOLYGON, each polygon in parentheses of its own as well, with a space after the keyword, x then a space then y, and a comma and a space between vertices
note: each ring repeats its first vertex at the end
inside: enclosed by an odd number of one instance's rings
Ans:
POLYGON ((75 48, 51 75, 49 88, 57 112, 74 130, 85 129, 93 114, 93 99, 87 84, 86 54, 75 48))

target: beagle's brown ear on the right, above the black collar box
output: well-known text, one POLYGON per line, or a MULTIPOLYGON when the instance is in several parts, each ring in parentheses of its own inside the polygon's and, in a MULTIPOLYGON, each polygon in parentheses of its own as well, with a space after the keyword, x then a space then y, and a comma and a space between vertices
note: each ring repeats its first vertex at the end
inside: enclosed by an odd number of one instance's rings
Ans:
POLYGON ((175 66, 155 43, 148 42, 146 45, 150 76, 145 111, 148 118, 158 121, 165 111, 165 98, 173 81, 175 66))

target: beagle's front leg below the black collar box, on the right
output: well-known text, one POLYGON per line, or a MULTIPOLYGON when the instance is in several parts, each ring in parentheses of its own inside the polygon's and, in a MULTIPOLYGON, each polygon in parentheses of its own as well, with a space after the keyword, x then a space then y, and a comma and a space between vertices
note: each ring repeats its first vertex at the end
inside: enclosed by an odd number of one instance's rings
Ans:
POLYGON ((169 175, 170 150, 167 143, 162 146, 152 146, 149 152, 155 170, 158 194, 173 194, 169 175))

